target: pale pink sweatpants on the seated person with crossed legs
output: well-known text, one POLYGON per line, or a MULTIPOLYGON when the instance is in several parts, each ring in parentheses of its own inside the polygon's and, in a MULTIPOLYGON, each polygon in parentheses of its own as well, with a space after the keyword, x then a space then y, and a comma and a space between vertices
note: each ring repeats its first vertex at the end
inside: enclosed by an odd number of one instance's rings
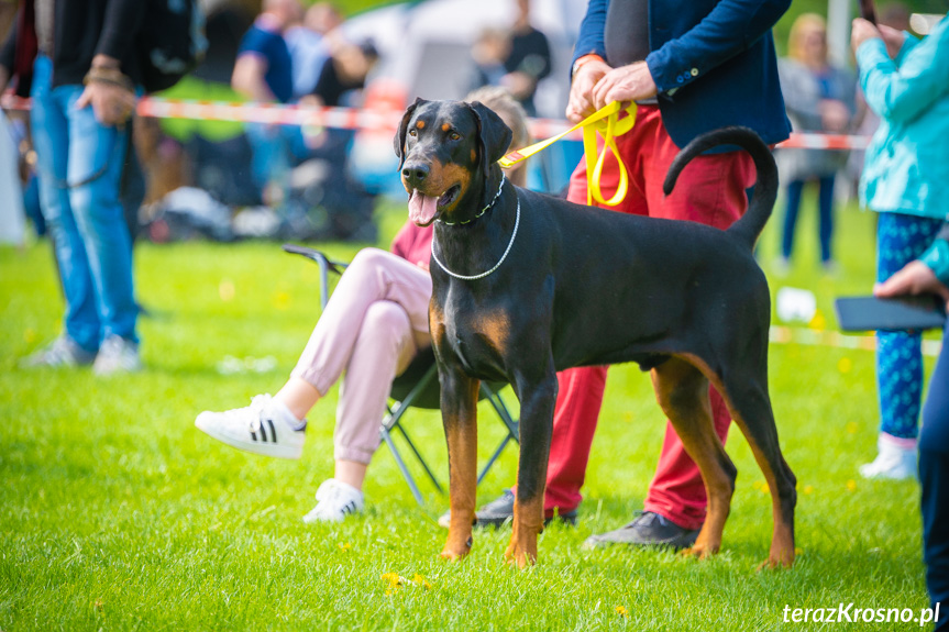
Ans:
POLYGON ((406 259, 361 251, 327 303, 293 375, 325 395, 340 387, 334 458, 368 464, 393 379, 431 344, 432 280, 406 259))

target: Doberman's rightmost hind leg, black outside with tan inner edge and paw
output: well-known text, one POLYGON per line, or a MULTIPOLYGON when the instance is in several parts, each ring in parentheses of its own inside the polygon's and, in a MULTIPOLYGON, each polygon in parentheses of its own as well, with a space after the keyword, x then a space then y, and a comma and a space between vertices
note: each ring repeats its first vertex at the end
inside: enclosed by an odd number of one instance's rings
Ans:
MULTIPOLYGON (((763 359, 766 367, 766 358, 763 359)), ((794 564, 794 507, 797 479, 781 454, 777 426, 768 395, 766 370, 748 368, 725 379, 719 392, 725 397, 735 423, 741 429, 754 459, 771 490, 774 533, 771 552, 759 568, 794 564)))

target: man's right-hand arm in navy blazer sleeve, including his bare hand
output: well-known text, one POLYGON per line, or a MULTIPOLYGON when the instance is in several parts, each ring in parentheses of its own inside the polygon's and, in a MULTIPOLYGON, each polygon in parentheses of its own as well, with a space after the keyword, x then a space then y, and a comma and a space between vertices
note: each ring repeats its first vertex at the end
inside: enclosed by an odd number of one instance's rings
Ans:
POLYGON ((651 52, 645 62, 608 73, 594 90, 594 104, 672 95, 748 49, 768 33, 791 0, 722 0, 698 24, 651 52))

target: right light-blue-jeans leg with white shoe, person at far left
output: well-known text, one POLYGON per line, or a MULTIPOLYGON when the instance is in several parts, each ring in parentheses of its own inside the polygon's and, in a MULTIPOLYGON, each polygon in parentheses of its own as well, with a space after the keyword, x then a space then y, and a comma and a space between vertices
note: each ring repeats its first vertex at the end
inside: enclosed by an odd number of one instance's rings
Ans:
POLYGON ((101 323, 93 369, 100 375, 136 370, 141 361, 132 240, 119 196, 128 131, 100 124, 91 107, 77 109, 81 93, 81 86, 54 89, 69 120, 69 203, 86 247, 101 323))

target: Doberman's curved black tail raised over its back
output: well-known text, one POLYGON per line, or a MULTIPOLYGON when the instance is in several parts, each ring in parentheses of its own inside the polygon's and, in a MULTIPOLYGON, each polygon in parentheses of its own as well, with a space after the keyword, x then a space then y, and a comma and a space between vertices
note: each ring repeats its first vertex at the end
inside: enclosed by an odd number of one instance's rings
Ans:
POLYGON ((754 195, 748 210, 728 229, 730 234, 748 244, 749 248, 753 248, 764 224, 771 217, 774 201, 777 199, 777 166, 774 164, 771 149, 752 130, 748 127, 722 127, 713 130, 692 141, 672 162, 662 190, 666 196, 671 193, 675 187, 675 180, 685 165, 695 156, 719 145, 738 145, 751 154, 754 168, 758 170, 758 181, 754 185, 754 195))

